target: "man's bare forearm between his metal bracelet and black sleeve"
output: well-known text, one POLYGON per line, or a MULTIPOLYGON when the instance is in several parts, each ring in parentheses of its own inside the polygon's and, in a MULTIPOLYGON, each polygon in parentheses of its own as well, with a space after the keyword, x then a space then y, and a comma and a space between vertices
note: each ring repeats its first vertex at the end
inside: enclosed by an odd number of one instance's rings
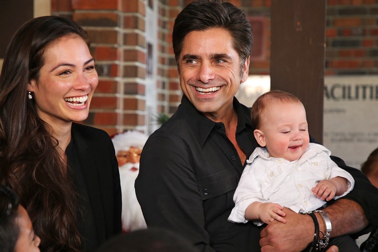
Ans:
MULTIPOLYGON (((323 211, 332 223, 331 237, 357 233, 369 224, 364 209, 359 203, 350 199, 339 199, 323 211)), ((323 218, 319 213, 316 213, 315 216, 318 219, 320 231, 325 234, 323 218)))

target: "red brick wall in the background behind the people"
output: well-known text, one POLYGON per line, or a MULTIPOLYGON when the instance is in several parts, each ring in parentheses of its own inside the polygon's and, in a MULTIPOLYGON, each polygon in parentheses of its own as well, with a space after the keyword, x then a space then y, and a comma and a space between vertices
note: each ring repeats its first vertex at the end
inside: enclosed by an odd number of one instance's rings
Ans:
MULTIPOLYGON (((157 1, 157 112, 171 115, 181 99, 172 49, 176 15, 192 0, 157 1), (183 6, 181 6, 183 4, 183 6)), ((260 49, 250 74, 269 75, 271 0, 230 0, 248 17, 261 17, 260 49)), ((146 4, 149 0, 52 0, 52 14, 72 17, 92 36, 99 84, 84 122, 110 135, 127 129, 148 133, 146 111, 146 4)), ((257 50, 255 48, 255 50, 257 50)), ((378 0, 328 0, 326 75, 378 74, 378 0)))

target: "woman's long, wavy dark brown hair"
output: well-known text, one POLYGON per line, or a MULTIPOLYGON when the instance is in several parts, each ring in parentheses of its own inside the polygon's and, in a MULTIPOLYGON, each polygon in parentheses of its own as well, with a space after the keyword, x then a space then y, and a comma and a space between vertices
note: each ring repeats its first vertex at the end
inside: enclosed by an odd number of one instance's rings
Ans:
POLYGON ((58 141, 28 99, 27 85, 38 83, 46 48, 67 36, 89 45, 86 31, 68 18, 26 22, 7 47, 0 75, 0 183, 19 195, 47 252, 81 250, 78 204, 58 141))

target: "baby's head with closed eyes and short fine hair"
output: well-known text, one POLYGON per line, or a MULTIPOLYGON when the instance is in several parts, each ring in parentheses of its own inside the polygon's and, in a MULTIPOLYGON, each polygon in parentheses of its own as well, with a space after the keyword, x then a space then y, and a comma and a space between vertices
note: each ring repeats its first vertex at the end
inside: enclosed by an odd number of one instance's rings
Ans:
POLYGON ((272 90, 256 99, 251 110, 254 135, 269 156, 298 160, 309 144, 306 111, 293 94, 272 90))

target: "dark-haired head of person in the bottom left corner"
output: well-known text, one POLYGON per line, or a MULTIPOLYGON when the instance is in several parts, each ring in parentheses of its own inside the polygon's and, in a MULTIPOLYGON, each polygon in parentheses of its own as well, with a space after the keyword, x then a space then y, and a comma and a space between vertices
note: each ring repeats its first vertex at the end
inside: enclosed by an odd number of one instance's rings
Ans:
POLYGON ((0 252, 39 252, 40 241, 17 195, 0 184, 0 252))

